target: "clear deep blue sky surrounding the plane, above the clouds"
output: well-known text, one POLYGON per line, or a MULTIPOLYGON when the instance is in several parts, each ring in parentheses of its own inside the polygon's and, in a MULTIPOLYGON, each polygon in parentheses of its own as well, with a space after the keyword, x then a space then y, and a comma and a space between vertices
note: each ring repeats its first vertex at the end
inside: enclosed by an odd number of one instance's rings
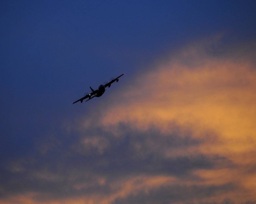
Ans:
POLYGON ((255 40, 255 10, 256 1, 1 1, 0 168, 37 154, 49 132, 65 134, 63 121, 97 112, 109 93, 186 44, 255 40), (102 97, 72 105, 122 73, 102 97))

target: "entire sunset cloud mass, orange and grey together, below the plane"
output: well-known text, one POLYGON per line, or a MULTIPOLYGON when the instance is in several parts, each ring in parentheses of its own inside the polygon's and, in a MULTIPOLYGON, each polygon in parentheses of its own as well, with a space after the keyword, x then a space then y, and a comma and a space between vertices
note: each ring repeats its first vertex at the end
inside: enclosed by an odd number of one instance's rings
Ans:
POLYGON ((11 161, 0 201, 255 203, 255 47, 244 50, 203 41, 158 62, 11 161))

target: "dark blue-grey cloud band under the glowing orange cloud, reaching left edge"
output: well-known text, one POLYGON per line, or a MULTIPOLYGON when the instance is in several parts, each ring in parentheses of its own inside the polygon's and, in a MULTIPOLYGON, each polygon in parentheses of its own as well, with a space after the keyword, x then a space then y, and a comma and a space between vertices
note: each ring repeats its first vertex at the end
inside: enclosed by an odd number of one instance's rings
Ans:
MULTIPOLYGON (((190 176, 193 170, 212 169, 223 160, 229 162, 200 152, 166 156, 168 149, 197 147, 206 142, 194 139, 189 130, 182 133, 181 127, 170 126, 174 129, 170 134, 162 133, 155 126, 142 131, 120 123, 112 128, 120 133, 118 136, 104 131, 101 126, 84 129, 82 133, 71 130, 69 136, 61 135, 62 142, 56 135, 50 140, 50 145, 49 141, 41 144, 47 146, 45 151, 14 161, 4 169, 1 198, 29 192, 37 193, 33 198, 40 201, 91 194, 109 196, 119 190, 119 185, 112 187, 113 183, 126 177, 165 175, 182 179, 190 176), (69 140, 70 136, 73 142, 69 140)), ((166 191, 168 188, 160 192, 166 191)), ((153 189, 152 192, 158 194, 159 190, 153 189)), ((143 196, 146 199, 146 195, 143 196)))

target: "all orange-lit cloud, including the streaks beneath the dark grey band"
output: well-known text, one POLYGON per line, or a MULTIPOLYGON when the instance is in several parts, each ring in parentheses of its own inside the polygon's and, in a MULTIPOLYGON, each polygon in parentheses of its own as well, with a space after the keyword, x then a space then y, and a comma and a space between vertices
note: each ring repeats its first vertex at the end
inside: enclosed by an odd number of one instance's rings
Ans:
MULTIPOLYGON (((143 157, 140 154, 146 146, 155 154, 162 151, 165 158, 203 154, 217 155, 230 162, 220 162, 211 169, 192 170, 186 179, 135 174, 121 183, 109 181, 119 190, 97 200, 98 203, 149 197, 155 189, 172 189, 177 185, 185 192, 188 188, 216 188, 216 193, 210 196, 177 203, 222 202, 229 198, 236 203, 256 200, 256 174, 253 172, 256 165, 256 70, 246 56, 240 56, 239 60, 234 58, 236 55, 216 57, 207 54, 207 48, 202 45, 185 48, 149 73, 139 75, 129 86, 113 93, 109 100, 115 100, 102 105, 104 109, 100 110, 97 121, 86 119, 83 128, 90 129, 96 124, 115 138, 127 131, 116 128, 119 124, 129 124, 130 129, 142 132, 150 131, 152 126, 161 134, 178 131, 178 136, 185 139, 189 131, 191 138, 203 142, 166 147, 160 142, 163 135, 156 135, 158 141, 145 138, 143 144, 134 142, 133 151, 137 152, 137 157, 143 157), (179 129, 175 130, 177 127, 179 129), (193 176, 200 179, 192 179, 193 176)), ((88 148, 97 146, 100 154, 105 150, 99 145, 98 137, 84 142, 91 145, 88 148)), ((105 144, 111 146, 109 141, 105 144)), ((195 190, 194 194, 199 193, 195 190)))

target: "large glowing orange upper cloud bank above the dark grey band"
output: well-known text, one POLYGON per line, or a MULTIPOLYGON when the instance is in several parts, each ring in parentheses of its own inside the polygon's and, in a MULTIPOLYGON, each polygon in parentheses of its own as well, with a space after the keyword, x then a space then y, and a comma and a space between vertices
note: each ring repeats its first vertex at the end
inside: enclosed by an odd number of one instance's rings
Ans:
MULTIPOLYGON (((195 48, 186 52, 197 54, 195 48)), ((171 59, 138 77, 134 86, 118 93, 118 103, 103 111, 102 124, 132 122, 142 129, 154 124, 166 132, 168 123, 175 121, 193 127, 195 136, 206 129, 215 131, 222 141, 233 143, 232 151, 253 149, 255 69, 247 61, 202 57, 192 68, 171 59)))

